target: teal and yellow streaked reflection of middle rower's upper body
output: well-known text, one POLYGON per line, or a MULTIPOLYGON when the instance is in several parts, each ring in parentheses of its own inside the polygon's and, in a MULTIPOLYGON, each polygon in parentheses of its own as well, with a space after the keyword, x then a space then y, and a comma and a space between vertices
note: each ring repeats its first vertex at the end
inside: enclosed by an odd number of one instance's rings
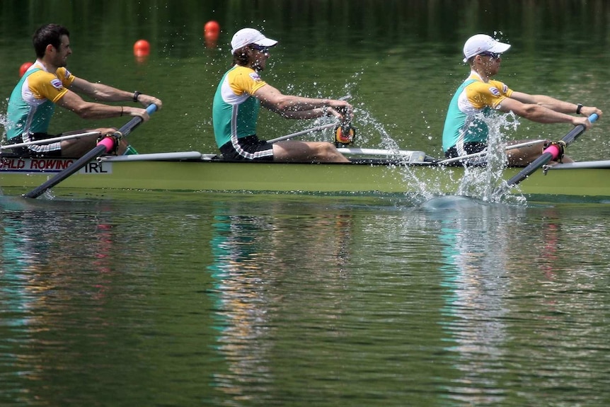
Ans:
POLYGON ((260 340, 269 329, 269 299, 265 298, 267 282, 259 260, 267 255, 264 246, 255 243, 256 231, 265 225, 257 224, 258 220, 262 219, 217 214, 213 224, 214 310, 221 331, 218 348, 229 369, 215 374, 215 379, 222 391, 236 399, 249 398, 246 388, 251 385, 266 394, 271 382, 265 341, 260 340))

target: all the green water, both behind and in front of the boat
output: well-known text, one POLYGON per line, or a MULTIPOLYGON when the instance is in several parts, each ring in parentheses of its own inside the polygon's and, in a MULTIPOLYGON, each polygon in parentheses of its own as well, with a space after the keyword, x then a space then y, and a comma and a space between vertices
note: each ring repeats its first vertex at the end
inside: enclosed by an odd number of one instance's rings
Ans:
MULTIPOLYGON (((280 40, 271 84, 349 95, 362 147, 439 155, 472 33, 513 44, 500 75, 512 88, 604 110, 609 11, 550 0, 3 1, 0 93, 32 59, 33 30, 63 23, 74 74, 163 99, 130 134, 138 151, 213 151, 226 42, 252 25, 280 40), (212 49, 211 19, 223 30, 212 49), (140 38, 145 62, 132 55, 140 38)), ((570 154, 607 158, 605 123, 570 154)), ((53 131, 86 124, 58 109, 53 131)), ((308 125, 271 113, 260 123, 269 137, 308 125)), ((506 137, 568 130, 523 122, 506 137)), ((609 206, 420 203, 7 193, 0 405, 607 406, 609 206)))

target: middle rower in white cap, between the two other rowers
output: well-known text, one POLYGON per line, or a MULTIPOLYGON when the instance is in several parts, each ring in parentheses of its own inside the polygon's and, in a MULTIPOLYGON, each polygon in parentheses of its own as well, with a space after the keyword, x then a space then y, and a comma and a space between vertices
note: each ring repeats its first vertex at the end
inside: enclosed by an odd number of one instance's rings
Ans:
POLYGON ((224 159, 349 162, 329 142, 269 143, 258 138, 259 105, 289 119, 352 117, 352 105, 346 101, 284 95, 263 81, 259 72, 266 67, 269 48, 276 44, 253 28, 239 30, 231 40, 234 66, 222 77, 212 106, 214 137, 224 159))

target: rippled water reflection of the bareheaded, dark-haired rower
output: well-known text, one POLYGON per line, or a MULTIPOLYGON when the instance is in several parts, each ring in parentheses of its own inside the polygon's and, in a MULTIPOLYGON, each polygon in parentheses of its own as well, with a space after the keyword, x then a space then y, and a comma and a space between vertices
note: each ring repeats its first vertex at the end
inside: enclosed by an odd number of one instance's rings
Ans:
POLYGON ((113 231, 103 221, 100 228, 96 215, 71 210, 79 208, 11 197, 0 202, 0 322, 6 328, 0 369, 8 390, 35 389, 24 403, 61 404, 62 391, 35 383, 52 382, 57 371, 81 366, 82 343, 93 348, 107 340, 103 327, 110 321, 91 307, 99 311, 113 298, 106 296, 113 231), (75 229, 91 231, 86 243, 75 229))

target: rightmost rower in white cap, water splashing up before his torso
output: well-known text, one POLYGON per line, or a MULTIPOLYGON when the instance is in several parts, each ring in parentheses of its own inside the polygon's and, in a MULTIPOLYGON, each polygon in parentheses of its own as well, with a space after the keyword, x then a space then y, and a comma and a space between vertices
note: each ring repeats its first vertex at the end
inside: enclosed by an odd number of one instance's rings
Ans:
MULTIPOLYGON (((478 153, 487 148, 488 127, 482 116, 493 115, 494 111, 513 112, 528 120, 540 123, 571 123, 591 126, 587 117, 602 111, 580 103, 559 101, 544 95, 530 95, 510 89, 500 81, 491 79, 500 71, 502 53, 509 44, 477 34, 464 44, 464 62, 471 72, 466 81, 451 98, 443 129, 443 151, 445 156, 454 158, 478 153)), ((517 144, 519 142, 511 142, 517 144)), ((538 144, 507 151, 509 164, 526 166, 542 154, 542 141, 538 144)), ((572 161, 567 156, 564 162, 572 161)), ((485 164, 485 156, 468 159, 466 164, 485 164)))

